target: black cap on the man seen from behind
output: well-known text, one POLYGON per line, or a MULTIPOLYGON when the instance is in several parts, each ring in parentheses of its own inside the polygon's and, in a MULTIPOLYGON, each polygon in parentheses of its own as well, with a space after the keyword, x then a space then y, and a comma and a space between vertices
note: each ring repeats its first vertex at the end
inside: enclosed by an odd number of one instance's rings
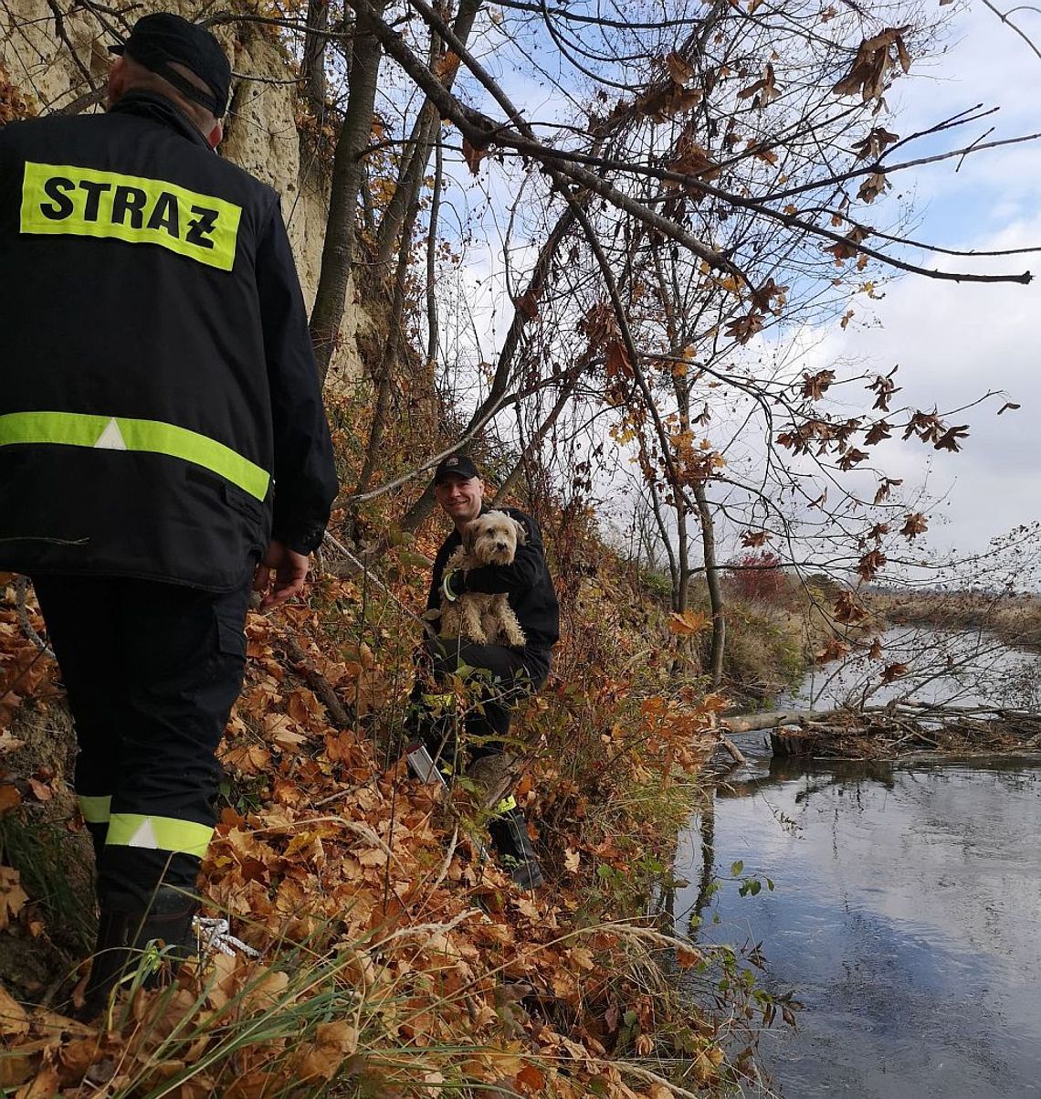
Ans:
POLYGON ((109 46, 109 49, 113 54, 130 54, 135 62, 168 80, 182 96, 200 103, 214 118, 221 118, 227 110, 232 66, 221 43, 204 26, 189 23, 187 19, 168 11, 142 15, 126 42, 109 46), (210 89, 209 93, 170 68, 169 62, 177 62, 194 73, 210 89))

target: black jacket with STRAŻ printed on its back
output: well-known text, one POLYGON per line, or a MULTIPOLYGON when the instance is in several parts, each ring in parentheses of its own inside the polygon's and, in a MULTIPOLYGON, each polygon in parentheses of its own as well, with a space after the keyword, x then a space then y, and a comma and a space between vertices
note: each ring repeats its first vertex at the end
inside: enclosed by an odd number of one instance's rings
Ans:
POLYGON ((240 585, 336 492, 278 195, 171 102, 0 130, 0 567, 240 585), (272 530, 273 523, 273 530, 272 530))

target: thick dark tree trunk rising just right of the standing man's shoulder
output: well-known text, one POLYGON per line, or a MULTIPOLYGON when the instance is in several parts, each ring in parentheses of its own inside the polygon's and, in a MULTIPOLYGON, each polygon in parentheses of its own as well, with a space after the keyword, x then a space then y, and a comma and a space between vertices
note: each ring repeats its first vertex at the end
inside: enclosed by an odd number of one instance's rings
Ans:
MULTIPOLYGON (((373 4, 382 14, 388 0, 373 4)), ((380 71, 382 47, 371 32, 371 23, 358 16, 351 48, 347 113, 333 157, 329 218, 322 249, 318 289, 311 311, 311 342, 324 382, 339 337, 347 299, 347 284, 355 255, 355 222, 358 193, 365 176, 365 151, 372 133, 372 111, 380 71)))

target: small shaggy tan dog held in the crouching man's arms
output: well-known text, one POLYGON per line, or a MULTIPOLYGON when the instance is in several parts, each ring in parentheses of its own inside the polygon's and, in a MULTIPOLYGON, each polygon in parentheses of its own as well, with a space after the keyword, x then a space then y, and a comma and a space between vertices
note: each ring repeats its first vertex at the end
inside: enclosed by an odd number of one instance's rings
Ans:
MULTIPOLYGON (((486 511, 471 519, 462 531, 462 545, 448 558, 445 575, 482 565, 512 565, 517 546, 527 541, 524 524, 505 511, 486 511)), ((527 637, 506 593, 463 591, 455 602, 441 598, 440 634, 481 645, 506 644, 522 648, 527 637)))

